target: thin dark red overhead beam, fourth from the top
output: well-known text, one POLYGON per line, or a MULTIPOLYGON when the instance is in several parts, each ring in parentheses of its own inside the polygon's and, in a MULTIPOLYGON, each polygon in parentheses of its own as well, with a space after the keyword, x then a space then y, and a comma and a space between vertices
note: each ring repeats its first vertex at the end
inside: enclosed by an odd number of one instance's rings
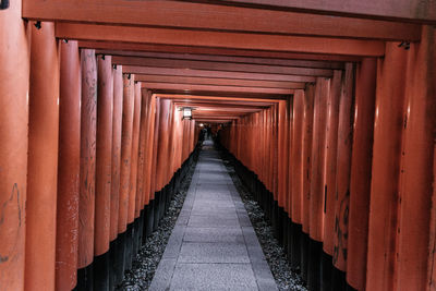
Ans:
MULTIPOLYGON (((292 60, 317 60, 354 62, 360 61, 358 56, 339 56, 326 53, 298 53, 289 51, 267 51, 254 49, 232 49, 232 48, 206 48, 174 45, 137 44, 137 43, 114 43, 114 41, 94 41, 81 40, 78 47, 89 49, 110 49, 121 51, 152 51, 152 52, 175 52, 175 53, 197 53, 204 56, 226 56, 226 57, 254 57, 254 58, 276 58, 292 60)), ((331 68, 339 69, 339 68, 331 68)))

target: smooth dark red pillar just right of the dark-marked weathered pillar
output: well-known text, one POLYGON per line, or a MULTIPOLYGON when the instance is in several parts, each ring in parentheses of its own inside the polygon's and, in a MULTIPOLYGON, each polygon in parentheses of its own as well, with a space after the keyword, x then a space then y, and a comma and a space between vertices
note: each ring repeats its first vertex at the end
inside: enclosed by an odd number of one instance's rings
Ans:
POLYGON ((375 59, 364 59, 355 77, 347 281, 358 290, 365 289, 366 280, 376 69, 375 59))

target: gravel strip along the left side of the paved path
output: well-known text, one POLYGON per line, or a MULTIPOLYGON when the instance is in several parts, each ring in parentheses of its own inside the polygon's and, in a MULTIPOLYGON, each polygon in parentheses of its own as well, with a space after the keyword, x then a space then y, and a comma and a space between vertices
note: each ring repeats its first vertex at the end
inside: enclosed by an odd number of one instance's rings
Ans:
POLYGON ((175 226, 180 210, 183 207, 183 202, 191 185, 194 170, 195 162, 191 166, 186 177, 181 182, 181 187, 171 201, 169 210, 160 221, 159 228, 153 232, 145 245, 141 247, 138 254, 134 258, 132 269, 125 271, 124 279, 117 290, 148 290, 164 251, 167 247, 172 229, 175 226))

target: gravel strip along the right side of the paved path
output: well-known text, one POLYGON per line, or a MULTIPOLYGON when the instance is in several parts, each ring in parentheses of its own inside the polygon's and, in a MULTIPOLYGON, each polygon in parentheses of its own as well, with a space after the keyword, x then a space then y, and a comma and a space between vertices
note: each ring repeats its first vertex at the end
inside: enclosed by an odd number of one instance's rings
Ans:
POLYGON ((222 155, 221 158, 245 205, 254 231, 256 232, 266 260, 276 280, 277 288, 279 290, 306 291, 307 289, 304 287, 301 277, 291 270, 283 247, 280 246, 276 238, 274 238, 271 225, 268 218, 265 217, 261 206, 253 199, 250 191, 241 182, 231 162, 226 159, 225 155, 222 155))

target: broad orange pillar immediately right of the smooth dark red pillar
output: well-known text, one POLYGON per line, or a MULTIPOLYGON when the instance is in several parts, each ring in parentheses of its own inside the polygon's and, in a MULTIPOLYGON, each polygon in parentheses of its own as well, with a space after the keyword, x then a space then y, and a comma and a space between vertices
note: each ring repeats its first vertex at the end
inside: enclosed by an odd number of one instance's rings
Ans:
POLYGON ((395 290, 398 190, 408 51, 386 45, 377 63, 366 290, 395 290))

